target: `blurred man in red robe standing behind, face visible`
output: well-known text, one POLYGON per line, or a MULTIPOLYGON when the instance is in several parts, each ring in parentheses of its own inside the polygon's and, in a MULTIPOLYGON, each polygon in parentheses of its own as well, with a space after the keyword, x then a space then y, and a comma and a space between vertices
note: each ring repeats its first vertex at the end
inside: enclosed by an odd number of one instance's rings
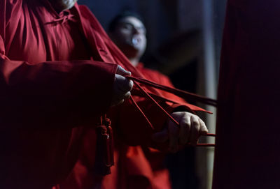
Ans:
MULTIPOLYGON (((158 71, 144 68, 143 63, 139 62, 139 59, 146 50, 146 27, 141 20, 141 17, 136 13, 125 11, 120 13, 113 19, 109 25, 109 36, 114 43, 122 50, 122 52, 130 60, 130 63, 136 67, 146 79, 162 84, 165 86, 172 86, 172 82, 165 75, 162 75, 158 71)), ((179 102, 184 102, 183 99, 174 96, 171 93, 162 93, 166 98, 171 98, 179 102)), ((141 102, 141 100, 139 100, 141 102)), ((120 107, 118 111, 126 111, 126 105, 120 107)), ((118 114, 116 111, 113 114, 118 114)), ((123 114, 123 113, 120 113, 123 114)), ((181 114, 181 112, 176 112, 181 114)), ((123 116, 117 116, 113 119, 114 125, 127 125, 127 118, 123 116), (122 117, 122 119, 119 119, 122 117)), ((136 123, 131 123, 133 126, 136 123)), ((92 133, 85 137, 85 145, 94 145, 92 142, 92 133)), ((165 140, 165 139, 163 139, 165 140)), ((94 146, 87 147, 82 152, 82 156, 76 167, 73 169, 71 176, 65 183, 61 185, 61 188, 94 188, 97 183, 102 189, 114 189, 114 188, 141 188, 141 189, 169 189, 171 188, 169 171, 164 165, 166 153, 162 153, 156 149, 149 148, 148 146, 129 146, 122 141, 118 135, 116 136, 116 151, 115 161, 116 166, 111 168, 111 174, 104 176, 102 181, 98 181, 94 173, 93 163, 88 163, 88 153, 86 151, 92 151, 94 146)), ((195 142, 196 144, 196 142, 195 142)), ((177 151, 178 146, 174 151, 177 151)))

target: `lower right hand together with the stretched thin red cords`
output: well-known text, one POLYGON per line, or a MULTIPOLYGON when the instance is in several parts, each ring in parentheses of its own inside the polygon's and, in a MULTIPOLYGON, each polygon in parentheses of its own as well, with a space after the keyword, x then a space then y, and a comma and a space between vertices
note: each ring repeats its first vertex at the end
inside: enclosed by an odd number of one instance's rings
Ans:
MULTIPOLYGON (((155 142, 159 143, 169 143, 169 151, 176 152, 179 150, 179 146, 184 146, 184 144, 192 145, 192 146, 215 146, 215 144, 197 144, 198 138, 200 135, 209 136, 209 137, 215 137, 215 134, 209 134, 208 129, 205 126, 204 121, 200 119, 195 114, 192 114, 190 112, 173 112, 172 114, 169 114, 166 112, 165 109, 163 109, 153 97, 148 94, 137 82, 140 82, 142 84, 147 84, 148 86, 153 86, 158 89, 162 89, 163 91, 169 91, 171 93, 176 93, 177 96, 181 96, 183 98, 190 98, 193 97, 196 100, 200 102, 204 102, 205 104, 209 105, 217 105, 216 100, 213 100, 211 98, 205 98, 203 96, 197 96, 193 93, 188 93, 186 91, 181 91, 179 89, 171 88, 168 86, 163 86, 160 84, 153 83, 148 80, 144 80, 141 78, 126 76, 127 79, 134 80, 135 85, 141 93, 146 96, 147 98, 151 99, 151 102, 158 105, 159 110, 163 112, 165 115, 169 116, 169 119, 167 121, 167 127, 161 130, 158 133, 155 133, 153 135, 153 139, 155 142)), ((139 109, 141 114, 143 114, 145 117, 146 115, 144 112, 141 111, 137 103, 132 98, 132 103, 139 109)), ((147 119, 148 121, 148 119, 147 119)), ((154 130, 153 125, 150 121, 148 121, 149 125, 151 126, 151 129, 154 130)))

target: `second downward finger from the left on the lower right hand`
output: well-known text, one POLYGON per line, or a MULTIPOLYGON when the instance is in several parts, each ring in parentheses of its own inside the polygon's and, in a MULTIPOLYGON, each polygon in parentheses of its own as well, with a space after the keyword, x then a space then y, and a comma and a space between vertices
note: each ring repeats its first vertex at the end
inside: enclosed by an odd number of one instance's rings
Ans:
POLYGON ((190 116, 188 114, 184 115, 180 121, 180 133, 179 142, 181 144, 186 144, 190 135, 190 116))

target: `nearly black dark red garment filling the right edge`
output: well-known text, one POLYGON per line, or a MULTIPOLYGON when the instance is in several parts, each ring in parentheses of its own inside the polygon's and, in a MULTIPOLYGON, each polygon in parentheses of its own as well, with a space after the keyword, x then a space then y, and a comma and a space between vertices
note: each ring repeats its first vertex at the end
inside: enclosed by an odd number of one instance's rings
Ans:
POLYGON ((280 188, 280 2, 228 1, 215 189, 280 188))

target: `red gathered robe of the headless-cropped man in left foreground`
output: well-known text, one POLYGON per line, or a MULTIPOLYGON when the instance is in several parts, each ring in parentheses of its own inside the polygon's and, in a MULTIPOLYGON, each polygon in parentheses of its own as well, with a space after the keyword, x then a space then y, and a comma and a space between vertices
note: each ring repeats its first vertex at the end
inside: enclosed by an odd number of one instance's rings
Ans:
POLYGON ((58 15, 48 1, 0 1, 0 188, 64 180, 83 126, 109 108, 116 64, 94 56, 78 11, 58 15))

